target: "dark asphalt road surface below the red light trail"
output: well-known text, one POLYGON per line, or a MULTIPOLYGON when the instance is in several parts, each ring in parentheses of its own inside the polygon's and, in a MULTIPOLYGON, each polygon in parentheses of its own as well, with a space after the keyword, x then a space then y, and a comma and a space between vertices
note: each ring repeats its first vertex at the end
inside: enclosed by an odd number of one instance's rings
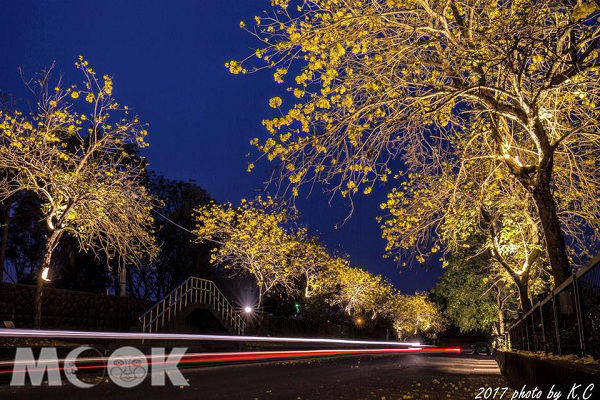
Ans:
MULTIPOLYGON (((475 399, 479 388, 508 383, 490 356, 343 356, 182 370, 189 386, 131 389, 105 380, 90 389, 62 386, 0 387, 0 399, 475 399)), ((481 397, 483 398, 483 396, 481 397)), ((499 395, 496 397, 499 399, 499 395)), ((510 399, 508 391, 505 399, 510 399)))

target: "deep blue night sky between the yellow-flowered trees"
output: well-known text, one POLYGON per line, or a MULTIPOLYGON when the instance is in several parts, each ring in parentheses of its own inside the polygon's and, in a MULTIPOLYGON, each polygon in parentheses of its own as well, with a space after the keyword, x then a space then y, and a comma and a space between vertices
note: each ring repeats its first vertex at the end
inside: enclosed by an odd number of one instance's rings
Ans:
MULTIPOLYGON (((24 96, 17 67, 29 74, 56 61, 67 82, 79 83, 81 54, 100 74, 113 75, 114 95, 150 124, 150 168, 172 179, 194 179, 219 201, 238 203, 260 191, 268 164, 252 173, 264 137, 268 99, 284 94, 268 72, 231 75, 224 63, 251 52, 256 42, 239 29, 270 7, 270 0, 4 0, 0 14, 0 90, 24 96), (247 158, 247 154, 251 154, 247 158)), ((330 207, 315 191, 299 203, 301 221, 355 266, 388 277, 403 293, 431 288, 439 275, 400 273, 383 259, 375 217, 385 188, 358 199, 354 216, 330 207)))

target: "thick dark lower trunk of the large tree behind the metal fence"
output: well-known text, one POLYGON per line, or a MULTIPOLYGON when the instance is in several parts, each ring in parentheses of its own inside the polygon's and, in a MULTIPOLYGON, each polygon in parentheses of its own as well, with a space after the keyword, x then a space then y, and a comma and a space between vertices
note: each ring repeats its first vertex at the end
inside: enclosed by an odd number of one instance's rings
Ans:
POLYGON ((554 197, 550 192, 549 172, 542 172, 542 175, 542 182, 533 189, 531 194, 546 238, 546 251, 552 268, 554 284, 559 286, 571 276, 571 267, 569 266, 565 238, 554 205, 554 197))

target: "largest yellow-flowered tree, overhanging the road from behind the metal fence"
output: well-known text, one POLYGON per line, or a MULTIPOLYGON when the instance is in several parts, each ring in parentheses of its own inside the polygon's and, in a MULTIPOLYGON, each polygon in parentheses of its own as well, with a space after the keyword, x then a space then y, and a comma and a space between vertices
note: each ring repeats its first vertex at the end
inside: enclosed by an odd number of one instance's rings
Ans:
POLYGON ((555 282, 570 276, 556 193, 570 199, 567 209, 586 204, 580 226, 598 232, 600 221, 595 2, 272 4, 253 29, 241 24, 261 47, 227 67, 269 68, 288 86, 290 96, 270 101, 281 110, 263 121, 270 136, 252 140, 278 161, 286 193, 323 182, 343 196, 368 194, 397 173, 394 159, 429 174, 446 154, 461 157, 454 140, 467 133, 467 146, 530 195, 555 282), (298 72, 288 79, 289 71, 298 72))

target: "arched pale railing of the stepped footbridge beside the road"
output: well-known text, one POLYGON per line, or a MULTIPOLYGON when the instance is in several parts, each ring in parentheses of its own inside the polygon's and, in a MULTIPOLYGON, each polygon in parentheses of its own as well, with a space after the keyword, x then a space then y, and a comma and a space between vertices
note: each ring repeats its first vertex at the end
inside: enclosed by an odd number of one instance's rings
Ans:
POLYGON ((246 322, 235 308, 227 301, 223 293, 213 281, 196 277, 189 277, 158 303, 140 315, 142 331, 144 333, 157 332, 163 328, 171 318, 188 306, 188 304, 208 306, 231 331, 243 335, 246 322))

